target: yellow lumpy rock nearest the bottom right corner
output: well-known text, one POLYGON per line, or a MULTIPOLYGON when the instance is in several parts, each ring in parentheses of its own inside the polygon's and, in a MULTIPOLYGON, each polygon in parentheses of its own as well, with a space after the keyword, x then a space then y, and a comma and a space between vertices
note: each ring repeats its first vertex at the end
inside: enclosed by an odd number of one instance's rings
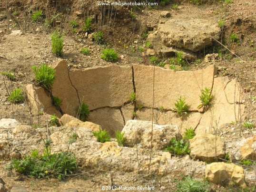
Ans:
POLYGON ((206 166, 206 179, 216 184, 239 184, 245 188, 244 169, 234 163, 211 163, 206 166))

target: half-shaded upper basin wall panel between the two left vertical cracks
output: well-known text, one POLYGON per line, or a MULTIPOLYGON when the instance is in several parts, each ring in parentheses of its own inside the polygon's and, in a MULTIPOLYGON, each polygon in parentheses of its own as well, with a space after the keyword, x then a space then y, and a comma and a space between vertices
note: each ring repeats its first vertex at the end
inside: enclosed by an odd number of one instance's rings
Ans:
POLYGON ((90 110, 118 107, 128 102, 133 90, 132 68, 116 65, 70 71, 81 101, 90 110))

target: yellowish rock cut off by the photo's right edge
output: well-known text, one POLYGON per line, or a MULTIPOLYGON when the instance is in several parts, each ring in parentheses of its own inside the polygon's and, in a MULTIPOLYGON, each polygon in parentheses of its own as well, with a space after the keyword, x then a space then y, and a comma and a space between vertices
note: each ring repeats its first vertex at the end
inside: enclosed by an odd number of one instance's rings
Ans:
POLYGON ((243 143, 240 147, 242 158, 256 161, 256 136, 247 138, 243 143))

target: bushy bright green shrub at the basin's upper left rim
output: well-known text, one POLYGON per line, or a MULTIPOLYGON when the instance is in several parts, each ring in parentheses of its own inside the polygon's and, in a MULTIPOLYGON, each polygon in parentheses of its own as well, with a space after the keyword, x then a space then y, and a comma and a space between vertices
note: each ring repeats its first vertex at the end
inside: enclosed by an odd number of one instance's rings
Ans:
POLYGON ((46 89, 50 89, 55 80, 55 70, 46 64, 42 64, 39 68, 36 66, 32 67, 34 74, 36 76, 36 81, 39 86, 46 89))

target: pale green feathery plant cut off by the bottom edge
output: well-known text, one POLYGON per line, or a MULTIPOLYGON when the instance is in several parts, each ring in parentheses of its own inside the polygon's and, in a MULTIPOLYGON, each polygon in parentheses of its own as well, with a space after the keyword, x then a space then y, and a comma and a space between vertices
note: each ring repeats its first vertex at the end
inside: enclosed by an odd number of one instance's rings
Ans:
POLYGON ((207 182, 192 179, 190 176, 177 184, 177 192, 207 192, 207 182))

